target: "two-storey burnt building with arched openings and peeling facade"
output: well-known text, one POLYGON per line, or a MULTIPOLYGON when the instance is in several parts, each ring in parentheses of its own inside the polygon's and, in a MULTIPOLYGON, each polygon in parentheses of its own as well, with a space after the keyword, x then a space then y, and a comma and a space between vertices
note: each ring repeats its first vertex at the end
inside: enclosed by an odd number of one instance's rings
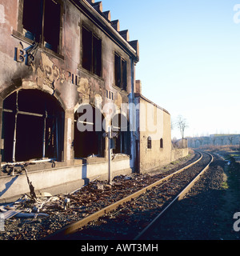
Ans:
POLYGON ((139 171, 138 40, 102 2, 0 0, 0 30, 0 200, 26 193, 22 163, 35 190, 106 178, 109 127, 113 175, 139 171))

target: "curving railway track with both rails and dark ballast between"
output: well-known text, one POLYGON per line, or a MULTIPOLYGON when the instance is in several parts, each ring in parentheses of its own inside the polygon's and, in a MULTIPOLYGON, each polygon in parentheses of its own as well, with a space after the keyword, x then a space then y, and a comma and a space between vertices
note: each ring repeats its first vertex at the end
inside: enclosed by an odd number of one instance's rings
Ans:
POLYGON ((213 161, 210 154, 202 152, 199 155, 198 160, 189 166, 58 230, 46 239, 141 239, 174 202, 188 193, 213 161))

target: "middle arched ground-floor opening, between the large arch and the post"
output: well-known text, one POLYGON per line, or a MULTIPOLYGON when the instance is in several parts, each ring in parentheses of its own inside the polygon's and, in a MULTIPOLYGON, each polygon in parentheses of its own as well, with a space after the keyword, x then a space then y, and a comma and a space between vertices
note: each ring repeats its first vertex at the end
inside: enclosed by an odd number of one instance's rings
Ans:
POLYGON ((105 138, 103 138, 102 122, 103 115, 100 110, 93 109, 91 120, 82 119, 85 113, 76 112, 74 115, 74 157, 87 158, 94 154, 97 157, 104 157, 105 138), (97 115, 97 118, 96 118, 97 115), (96 120, 98 120, 96 122, 96 120), (79 123, 82 127, 86 126, 86 130, 78 129, 79 123))

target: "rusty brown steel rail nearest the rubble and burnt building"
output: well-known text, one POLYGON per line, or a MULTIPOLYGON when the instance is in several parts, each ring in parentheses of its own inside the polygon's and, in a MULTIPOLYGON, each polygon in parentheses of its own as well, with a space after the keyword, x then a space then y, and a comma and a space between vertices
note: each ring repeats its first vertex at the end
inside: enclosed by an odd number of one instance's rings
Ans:
POLYGON ((162 182, 165 182, 166 180, 170 179, 175 174, 181 173, 183 170, 186 170, 186 169, 190 168, 191 166, 194 166, 197 162, 199 162, 202 159, 202 153, 198 152, 198 154, 200 154, 200 157, 196 161, 190 163, 190 165, 185 166, 182 169, 177 170, 173 174, 170 174, 170 175, 166 176, 165 178, 158 180, 158 182, 154 182, 154 183, 150 184, 149 186, 144 187, 142 190, 138 190, 134 194, 130 194, 126 198, 122 198, 118 202, 114 202, 110 206, 106 206, 102 210, 98 210, 94 214, 90 214, 86 218, 82 218, 81 220, 79 220, 77 222, 71 223, 70 225, 63 227, 61 230, 58 230, 58 231, 54 232, 53 234, 50 234, 49 236, 47 236, 45 239, 54 239, 55 237, 62 237, 62 236, 66 236, 68 234, 74 234, 78 229, 82 228, 83 226, 86 226, 88 223, 98 220, 98 218, 102 217, 105 214, 108 214, 110 211, 116 210, 118 208, 118 206, 121 206, 123 203, 130 202, 134 198, 137 198, 139 195, 146 193, 146 191, 152 189, 154 186, 158 186, 158 185, 162 184, 162 182))

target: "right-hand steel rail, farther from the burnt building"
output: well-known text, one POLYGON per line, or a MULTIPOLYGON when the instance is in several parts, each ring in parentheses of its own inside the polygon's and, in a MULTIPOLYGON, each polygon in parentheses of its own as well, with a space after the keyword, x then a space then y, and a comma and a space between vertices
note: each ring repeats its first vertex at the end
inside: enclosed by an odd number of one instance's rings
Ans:
POLYGON ((174 202, 182 200, 182 198, 184 198, 186 196, 186 194, 190 191, 190 189, 194 186, 194 184, 196 182, 198 182, 198 179, 201 178, 202 174, 204 174, 206 172, 206 170, 209 168, 210 163, 214 161, 214 157, 211 154, 206 153, 206 152, 204 152, 204 153, 208 154, 210 156, 210 162, 208 162, 208 164, 201 170, 201 172, 174 198, 174 200, 172 200, 166 206, 166 208, 164 208, 164 210, 161 211, 160 214, 158 214, 158 216, 156 218, 154 218, 154 220, 152 222, 150 222, 150 224, 148 226, 146 226, 146 228, 144 230, 142 230, 141 233, 138 234, 138 236, 136 238, 134 238, 134 240, 139 240, 144 234, 146 234, 146 232, 148 232, 150 230, 150 228, 153 227, 154 223, 157 222, 158 219, 162 217, 162 214, 164 214, 166 212, 166 210, 168 210, 170 208, 170 206, 172 206, 174 204, 174 202))

